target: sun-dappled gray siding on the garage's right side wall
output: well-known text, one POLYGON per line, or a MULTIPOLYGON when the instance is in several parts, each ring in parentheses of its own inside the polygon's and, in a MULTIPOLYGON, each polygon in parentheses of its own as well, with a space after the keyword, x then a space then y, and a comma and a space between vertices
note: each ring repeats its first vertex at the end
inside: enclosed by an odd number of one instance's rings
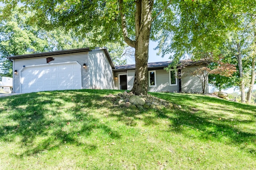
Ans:
POLYGON ((88 58, 89 88, 114 89, 114 76, 104 51, 90 51, 88 58))

